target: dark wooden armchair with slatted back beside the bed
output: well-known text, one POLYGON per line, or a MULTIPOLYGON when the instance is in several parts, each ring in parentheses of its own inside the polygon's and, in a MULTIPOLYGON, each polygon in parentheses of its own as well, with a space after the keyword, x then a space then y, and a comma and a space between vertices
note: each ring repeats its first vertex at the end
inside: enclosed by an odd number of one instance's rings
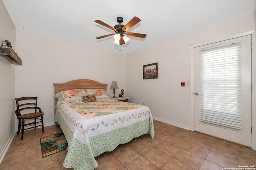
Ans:
POLYGON ((24 130, 27 130, 30 128, 36 129, 36 127, 42 126, 42 131, 44 133, 44 120, 43 120, 44 113, 41 111, 40 107, 37 107, 37 97, 21 97, 18 99, 16 98, 15 101, 17 105, 17 110, 15 111, 15 114, 17 116, 17 119, 19 120, 17 134, 20 133, 20 129, 21 129, 21 140, 23 140, 24 130), (39 112, 37 112, 37 110, 39 112), (21 114, 21 111, 24 114, 21 114), (31 113, 33 111, 34 113, 31 113), (41 119, 39 117, 41 117, 41 119), (34 122, 25 124, 25 119, 26 120, 34 119, 34 122), (37 122, 36 121, 37 119, 40 121, 37 122), (41 122, 41 125, 36 125, 36 123, 40 123, 40 122, 41 122), (34 127, 29 127, 24 129, 24 126, 33 125, 33 124, 34 124, 34 127))

